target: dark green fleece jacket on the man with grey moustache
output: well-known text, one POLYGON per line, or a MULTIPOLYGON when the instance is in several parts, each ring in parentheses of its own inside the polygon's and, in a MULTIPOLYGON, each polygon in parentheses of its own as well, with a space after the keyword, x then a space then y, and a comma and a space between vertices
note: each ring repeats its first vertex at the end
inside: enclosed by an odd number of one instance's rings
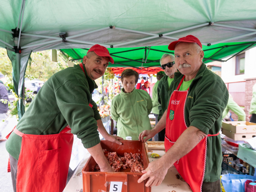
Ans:
MULTIPOLYGON (((182 77, 180 72, 175 73, 170 86, 169 99, 172 92, 177 89, 182 77)), ((220 76, 207 69, 206 65, 202 63, 188 90, 184 109, 187 126, 194 126, 205 134, 217 134, 220 132, 222 112, 227 103, 228 90, 225 83, 220 76)), ((221 162, 220 135, 207 137, 204 182, 214 182, 220 179, 221 162)))

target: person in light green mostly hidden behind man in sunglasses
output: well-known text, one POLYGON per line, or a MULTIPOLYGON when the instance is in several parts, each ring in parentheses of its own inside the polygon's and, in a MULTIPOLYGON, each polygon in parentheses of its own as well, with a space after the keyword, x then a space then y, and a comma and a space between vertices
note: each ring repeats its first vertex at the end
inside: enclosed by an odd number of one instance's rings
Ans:
MULTIPOLYGON (((156 74, 156 79, 157 82, 154 84, 153 90, 152 90, 152 103, 153 103, 153 108, 152 108, 152 113, 153 115, 156 117, 156 124, 158 123, 158 114, 159 114, 159 109, 158 106, 160 105, 158 102, 158 98, 157 98, 157 86, 159 84, 159 81, 162 79, 162 77, 165 76, 164 71, 159 71, 156 74)), ((156 126, 155 124, 155 126, 156 126)), ((154 136, 155 141, 158 141, 158 133, 154 136)))

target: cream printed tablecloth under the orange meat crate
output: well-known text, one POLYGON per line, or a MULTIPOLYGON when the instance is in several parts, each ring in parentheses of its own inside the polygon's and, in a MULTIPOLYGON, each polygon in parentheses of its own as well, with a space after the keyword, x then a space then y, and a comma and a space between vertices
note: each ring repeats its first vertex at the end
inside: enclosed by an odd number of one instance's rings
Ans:
MULTIPOLYGON (((156 160, 156 159, 150 157, 151 153, 157 153, 160 156, 164 155, 164 151, 150 151, 150 152, 148 152, 149 162, 156 160)), ((90 157, 90 154, 86 150, 86 152, 84 153, 84 158, 78 165, 76 171, 74 172, 73 176, 69 180, 69 182, 68 182, 66 188, 63 190, 63 192, 83 192, 82 169, 84 168, 84 165, 87 162, 87 160, 89 159, 89 157, 90 157)), ((159 191, 161 191, 161 192, 192 192, 189 185, 185 181, 182 181, 182 180, 179 180, 176 178, 177 174, 178 174, 178 172, 175 169, 175 167, 171 167, 168 170, 161 185, 159 185, 157 187, 156 186, 152 187, 151 192, 159 192, 159 191)))

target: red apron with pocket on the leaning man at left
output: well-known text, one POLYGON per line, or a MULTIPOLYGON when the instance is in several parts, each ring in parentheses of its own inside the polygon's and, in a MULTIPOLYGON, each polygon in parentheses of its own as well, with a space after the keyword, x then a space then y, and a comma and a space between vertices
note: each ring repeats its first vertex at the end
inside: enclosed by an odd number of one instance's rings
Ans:
MULTIPOLYGON (((84 71, 82 63, 80 67, 84 71)), ((67 182, 73 145, 70 127, 67 126, 60 133, 51 135, 24 134, 16 128, 13 131, 22 137, 16 191, 62 192, 67 182)), ((7 135, 7 139, 10 134, 7 135)))

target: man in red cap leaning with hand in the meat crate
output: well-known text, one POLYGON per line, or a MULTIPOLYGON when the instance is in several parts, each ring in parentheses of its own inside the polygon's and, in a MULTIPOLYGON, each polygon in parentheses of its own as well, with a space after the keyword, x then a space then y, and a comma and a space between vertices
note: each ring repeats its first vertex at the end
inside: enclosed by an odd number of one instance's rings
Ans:
POLYGON ((113 172, 100 146, 98 131, 109 141, 120 137, 105 130, 92 92, 108 62, 108 50, 93 45, 83 63, 50 77, 31 102, 6 142, 13 190, 59 191, 66 186, 68 165, 76 134, 102 172, 113 172), (98 129, 98 131, 97 131, 98 129))

